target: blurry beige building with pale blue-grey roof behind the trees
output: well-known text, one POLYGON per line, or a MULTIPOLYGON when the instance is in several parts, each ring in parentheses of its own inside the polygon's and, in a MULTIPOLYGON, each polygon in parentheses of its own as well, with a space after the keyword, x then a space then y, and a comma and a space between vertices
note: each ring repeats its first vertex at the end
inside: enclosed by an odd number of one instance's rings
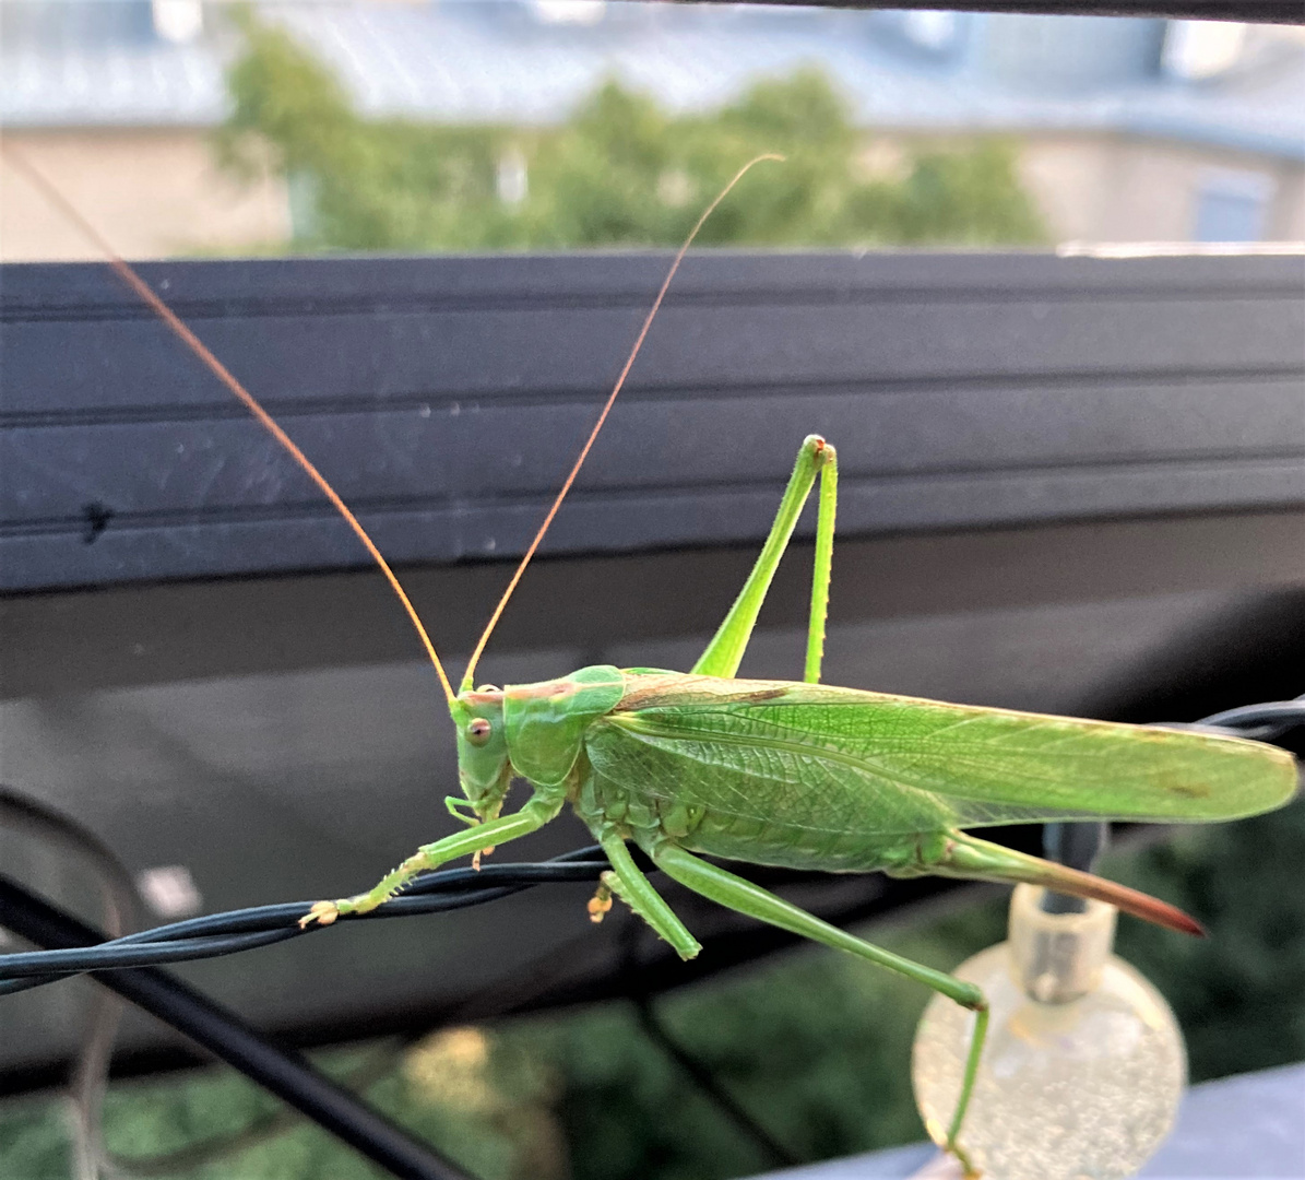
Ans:
MULTIPOLYGON (((604 0, 261 3, 364 119, 548 128, 606 81, 669 112, 816 67, 868 176, 1000 133, 1052 241, 1305 238, 1305 40, 1227 22, 604 0)), ((7 0, 0 124, 129 257, 268 252, 313 219, 283 174, 234 176, 214 131, 241 37, 200 0, 7 0)), ((672 178, 673 179, 673 178, 672 178)), ((529 191, 504 151, 497 200, 529 191)), ((90 251, 8 171, 0 257, 90 251)))

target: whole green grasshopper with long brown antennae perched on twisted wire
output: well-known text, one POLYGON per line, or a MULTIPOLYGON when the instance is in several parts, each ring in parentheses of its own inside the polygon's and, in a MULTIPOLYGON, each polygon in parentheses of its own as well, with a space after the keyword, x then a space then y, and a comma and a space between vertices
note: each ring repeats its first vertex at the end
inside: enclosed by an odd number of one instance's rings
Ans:
POLYGON ((329 925, 342 915, 375 910, 418 875, 458 856, 479 863, 483 852, 535 831, 570 804, 611 864, 589 903, 595 922, 617 897, 681 958, 701 950, 636 864, 629 851, 634 843, 666 876, 722 906, 898 971, 972 1010, 962 1090, 942 1146, 974 1176, 977 1172, 960 1132, 988 1025, 983 992, 822 922, 703 855, 800 869, 1028 882, 1201 933, 1194 919, 1165 902, 964 829, 1034 821, 1233 820, 1284 804, 1296 788, 1295 760, 1285 751, 1237 738, 822 684, 838 461, 834 446, 816 435, 797 452, 752 573, 688 672, 599 664, 538 684, 475 685, 489 636, 607 420, 681 260, 711 211, 758 161, 736 174, 676 255, 611 396, 499 600, 457 692, 398 577, 328 480, 81 215, 30 166, 17 162, 345 517, 403 603, 444 689, 462 788, 461 796, 445 801, 467 830, 420 847, 365 893, 315 903, 300 924, 329 925), (775 569, 817 482, 803 680, 736 679, 775 569), (508 790, 518 779, 530 788, 530 798, 505 816, 508 790))

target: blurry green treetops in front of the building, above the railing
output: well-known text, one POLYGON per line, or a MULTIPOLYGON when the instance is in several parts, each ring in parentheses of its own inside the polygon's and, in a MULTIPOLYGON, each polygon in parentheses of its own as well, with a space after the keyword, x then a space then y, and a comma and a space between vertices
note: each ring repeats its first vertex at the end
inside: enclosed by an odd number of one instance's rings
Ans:
POLYGON ((672 116, 616 81, 557 128, 364 120, 275 25, 238 16, 219 159, 284 176, 300 249, 671 245, 746 161, 782 153, 722 206, 705 244, 1018 245, 1045 232, 1011 145, 983 138, 867 167, 870 140, 816 69, 760 82, 713 114, 672 116), (260 154, 262 153, 262 154, 260 154), (499 194, 501 168, 527 192, 499 194))

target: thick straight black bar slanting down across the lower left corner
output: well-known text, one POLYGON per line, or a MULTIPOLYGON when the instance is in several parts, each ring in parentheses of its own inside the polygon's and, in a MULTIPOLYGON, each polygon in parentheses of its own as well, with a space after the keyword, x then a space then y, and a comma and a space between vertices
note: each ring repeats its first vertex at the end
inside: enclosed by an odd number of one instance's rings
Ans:
MULTIPOLYGON (((38 946, 70 948, 102 940, 99 931, 0 876, 0 924, 38 946)), ((155 967, 95 971, 98 983, 239 1069, 373 1163, 406 1180, 466 1180, 453 1164, 414 1140, 298 1053, 265 1040, 234 1013, 155 967)))

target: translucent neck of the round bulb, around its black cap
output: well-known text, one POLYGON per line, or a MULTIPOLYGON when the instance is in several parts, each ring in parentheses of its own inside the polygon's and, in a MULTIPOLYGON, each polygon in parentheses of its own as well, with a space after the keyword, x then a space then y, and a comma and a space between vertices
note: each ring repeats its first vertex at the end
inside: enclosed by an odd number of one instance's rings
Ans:
POLYGON ((1091 992, 1114 946, 1114 906, 1090 901, 1081 914, 1043 908, 1040 885, 1017 885, 1010 899, 1010 970, 1031 1000, 1067 1004, 1091 992))

